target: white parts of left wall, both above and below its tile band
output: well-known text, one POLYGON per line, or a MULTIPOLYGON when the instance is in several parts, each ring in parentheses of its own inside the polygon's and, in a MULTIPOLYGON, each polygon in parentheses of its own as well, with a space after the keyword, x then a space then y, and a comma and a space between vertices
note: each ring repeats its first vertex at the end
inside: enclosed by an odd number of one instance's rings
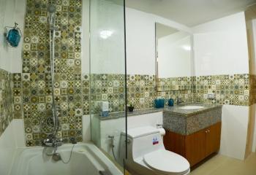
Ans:
MULTIPOLYGON (((18 48, 7 47, 4 39, 4 27, 18 27, 23 33, 26 0, 0 0, 0 69, 12 73, 21 72, 21 49, 23 38, 18 48)), ((7 175, 12 166, 12 159, 18 147, 25 147, 23 120, 12 120, 0 136, 0 174, 7 175)))

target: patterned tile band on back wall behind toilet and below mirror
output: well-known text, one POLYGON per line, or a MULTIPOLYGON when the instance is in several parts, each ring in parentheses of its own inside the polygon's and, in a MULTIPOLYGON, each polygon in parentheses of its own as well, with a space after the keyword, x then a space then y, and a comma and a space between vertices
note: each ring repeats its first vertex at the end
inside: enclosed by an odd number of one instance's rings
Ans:
MULTIPOLYGON (((124 111, 124 74, 88 74, 83 75, 83 112, 89 114, 99 113, 99 102, 109 102, 109 112, 124 111), (91 90, 91 105, 89 102, 91 90), (91 106, 91 109, 89 108, 91 106)), ((153 101, 157 97, 176 98, 182 97, 184 101, 192 101, 192 90, 178 90, 157 92, 156 77, 154 75, 127 75, 127 101, 135 109, 154 107, 153 101)))

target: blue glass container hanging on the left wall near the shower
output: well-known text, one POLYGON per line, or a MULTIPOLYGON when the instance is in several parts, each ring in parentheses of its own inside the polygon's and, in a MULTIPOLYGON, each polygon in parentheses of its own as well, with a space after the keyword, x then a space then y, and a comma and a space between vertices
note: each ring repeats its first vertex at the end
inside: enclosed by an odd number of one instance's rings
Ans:
MULTIPOLYGON (((21 38, 20 28, 17 28, 18 23, 15 23, 15 26, 8 31, 7 33, 7 42, 11 47, 18 47, 21 38)), ((8 27, 10 28, 10 27, 8 27)))

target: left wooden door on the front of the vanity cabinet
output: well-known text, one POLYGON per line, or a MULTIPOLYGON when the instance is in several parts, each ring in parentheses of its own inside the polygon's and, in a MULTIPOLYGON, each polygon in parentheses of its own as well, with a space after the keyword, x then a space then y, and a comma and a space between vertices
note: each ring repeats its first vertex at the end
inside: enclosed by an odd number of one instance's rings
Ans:
POLYGON ((201 130, 186 136, 185 158, 189 160, 190 166, 206 158, 206 130, 201 130))

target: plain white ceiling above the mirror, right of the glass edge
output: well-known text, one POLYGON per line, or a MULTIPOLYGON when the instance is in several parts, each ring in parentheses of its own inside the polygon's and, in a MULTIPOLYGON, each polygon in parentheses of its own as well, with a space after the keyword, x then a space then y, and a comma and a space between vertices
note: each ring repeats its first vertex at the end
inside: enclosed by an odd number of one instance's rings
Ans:
POLYGON ((241 12, 256 0, 126 0, 126 6, 192 27, 241 12))

